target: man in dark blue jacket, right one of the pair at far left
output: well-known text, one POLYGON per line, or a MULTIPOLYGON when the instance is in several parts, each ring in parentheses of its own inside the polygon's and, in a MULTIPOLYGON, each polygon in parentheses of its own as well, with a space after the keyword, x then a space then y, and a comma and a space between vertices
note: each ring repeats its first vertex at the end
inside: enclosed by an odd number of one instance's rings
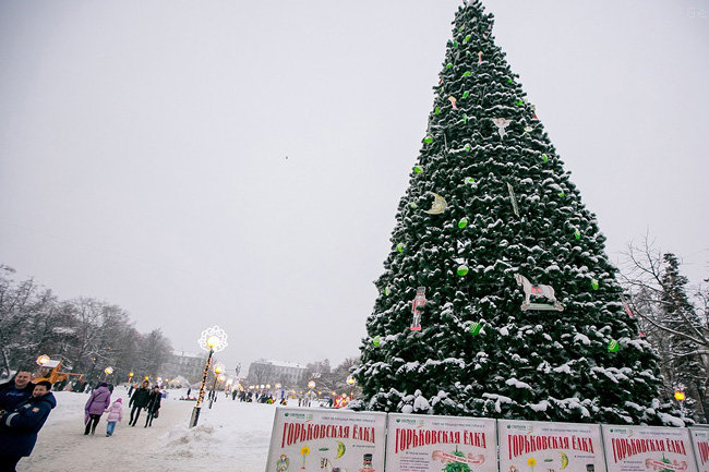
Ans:
POLYGON ((23 457, 29 456, 37 443, 37 433, 44 426, 57 400, 51 384, 41 380, 32 397, 0 417, 0 471, 14 472, 23 457))

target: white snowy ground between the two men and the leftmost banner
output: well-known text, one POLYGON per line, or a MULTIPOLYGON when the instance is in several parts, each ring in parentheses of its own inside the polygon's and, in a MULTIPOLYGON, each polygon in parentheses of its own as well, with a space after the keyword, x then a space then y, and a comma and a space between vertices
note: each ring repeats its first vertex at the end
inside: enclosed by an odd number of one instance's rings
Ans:
MULTIPOLYGON (((117 390, 128 403, 124 390, 117 390)), ((83 394, 59 392, 58 407, 39 434, 31 458, 19 472, 82 472, 121 465, 129 470, 259 472, 265 470, 274 406, 241 403, 219 398, 212 410, 202 409, 200 425, 187 427, 193 402, 164 400, 160 416, 145 428, 144 415, 135 427, 123 422, 106 437, 105 416, 95 436, 83 434, 83 394)), ((115 398, 117 398, 115 396, 115 398)))

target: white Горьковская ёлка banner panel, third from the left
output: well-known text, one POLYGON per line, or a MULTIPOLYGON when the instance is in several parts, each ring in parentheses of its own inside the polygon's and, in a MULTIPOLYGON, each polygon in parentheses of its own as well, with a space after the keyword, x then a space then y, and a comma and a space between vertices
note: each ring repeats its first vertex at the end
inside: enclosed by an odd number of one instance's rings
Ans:
POLYGON ((501 472, 606 472, 598 424, 497 421, 501 472))

